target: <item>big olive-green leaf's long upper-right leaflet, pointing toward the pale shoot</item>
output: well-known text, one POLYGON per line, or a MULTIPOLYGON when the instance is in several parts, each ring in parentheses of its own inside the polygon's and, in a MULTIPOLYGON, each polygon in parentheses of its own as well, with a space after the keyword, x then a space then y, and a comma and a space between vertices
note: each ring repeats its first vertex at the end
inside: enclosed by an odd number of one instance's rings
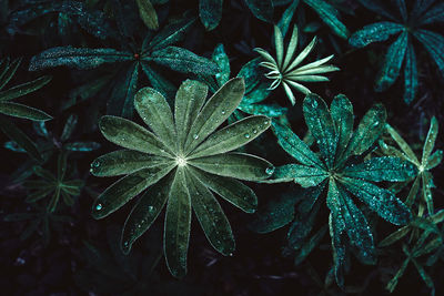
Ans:
POLYGON ((238 108, 245 91, 243 79, 234 78, 214 93, 198 114, 188 134, 184 151, 188 154, 238 108))

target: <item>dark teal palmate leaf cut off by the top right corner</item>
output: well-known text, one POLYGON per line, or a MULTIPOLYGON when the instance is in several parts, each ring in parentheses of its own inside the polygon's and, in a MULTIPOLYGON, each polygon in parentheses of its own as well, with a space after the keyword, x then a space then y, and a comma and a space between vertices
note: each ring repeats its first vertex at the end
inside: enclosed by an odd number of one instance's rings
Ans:
POLYGON ((400 76, 404 64, 404 102, 410 104, 416 96, 418 79, 416 54, 413 39, 420 41, 435 61, 441 74, 444 76, 444 37, 427 29, 422 29, 436 22, 444 21, 443 4, 435 1, 416 0, 415 6, 407 14, 404 0, 396 1, 397 13, 387 10, 386 4, 379 1, 360 1, 367 9, 389 18, 391 21, 381 21, 365 25, 355 32, 349 40, 355 48, 363 48, 370 43, 385 41, 398 34, 385 54, 384 63, 375 82, 375 90, 387 90, 400 76), (401 18, 398 17, 401 14, 401 18), (404 62, 405 61, 405 62, 404 62))

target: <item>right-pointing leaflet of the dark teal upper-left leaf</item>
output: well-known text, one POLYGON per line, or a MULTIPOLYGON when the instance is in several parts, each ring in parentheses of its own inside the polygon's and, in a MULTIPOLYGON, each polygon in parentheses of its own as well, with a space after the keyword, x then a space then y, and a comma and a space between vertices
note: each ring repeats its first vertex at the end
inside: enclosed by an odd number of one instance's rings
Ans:
POLYGON ((213 61, 176 47, 157 50, 149 58, 144 58, 144 60, 152 60, 158 64, 183 73, 212 75, 220 71, 218 64, 213 61))

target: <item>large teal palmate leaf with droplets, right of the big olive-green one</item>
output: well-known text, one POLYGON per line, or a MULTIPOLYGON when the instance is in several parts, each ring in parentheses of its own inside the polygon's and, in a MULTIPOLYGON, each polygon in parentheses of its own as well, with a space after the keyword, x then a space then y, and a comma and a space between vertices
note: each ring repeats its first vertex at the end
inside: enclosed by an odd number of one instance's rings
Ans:
POLYGON ((417 171, 400 157, 373 157, 356 162, 362 160, 384 130, 386 114, 382 105, 373 106, 354 132, 353 108, 344 95, 335 96, 329 110, 320 96, 309 94, 303 102, 303 112, 320 153, 314 153, 290 127, 273 123, 278 143, 299 163, 278 166, 265 182, 295 182, 305 188, 297 207, 300 216, 296 215, 289 229, 289 245, 300 252, 296 262, 305 258, 313 249, 314 242, 320 241, 321 234, 316 234, 310 238, 310 244, 304 244, 319 212, 320 196, 325 187, 329 188, 326 204, 331 211, 334 269, 337 284, 343 285, 347 245, 357 249, 359 258, 364 263, 372 263, 375 257, 370 224, 351 195, 359 197, 384 220, 396 225, 406 224, 411 220, 407 206, 393 193, 374 183, 404 182, 417 171))

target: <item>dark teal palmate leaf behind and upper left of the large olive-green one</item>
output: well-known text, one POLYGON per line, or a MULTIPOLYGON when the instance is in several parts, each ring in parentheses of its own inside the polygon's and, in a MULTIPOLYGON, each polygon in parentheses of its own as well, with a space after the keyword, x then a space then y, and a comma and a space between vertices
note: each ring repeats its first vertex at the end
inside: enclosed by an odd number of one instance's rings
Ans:
MULTIPOLYGON (((141 11, 143 11, 141 13, 147 18, 150 14, 148 2, 138 1, 141 11)), ((147 76, 163 95, 172 99, 171 94, 174 92, 174 86, 158 72, 155 65, 167 67, 183 73, 209 75, 219 72, 219 67, 213 61, 189 50, 172 47, 184 37, 193 22, 194 19, 184 18, 165 25, 155 35, 148 32, 142 47, 133 43, 127 44, 127 41, 121 39, 120 48, 123 50, 73 48, 70 45, 51 48, 31 59, 30 70, 37 71, 61 65, 89 70, 105 64, 115 65, 115 72, 112 73, 115 78, 102 86, 111 89, 108 113, 132 118, 134 94, 138 90, 139 80, 143 76, 147 76)), ((154 23, 150 25, 154 25, 154 23)))

